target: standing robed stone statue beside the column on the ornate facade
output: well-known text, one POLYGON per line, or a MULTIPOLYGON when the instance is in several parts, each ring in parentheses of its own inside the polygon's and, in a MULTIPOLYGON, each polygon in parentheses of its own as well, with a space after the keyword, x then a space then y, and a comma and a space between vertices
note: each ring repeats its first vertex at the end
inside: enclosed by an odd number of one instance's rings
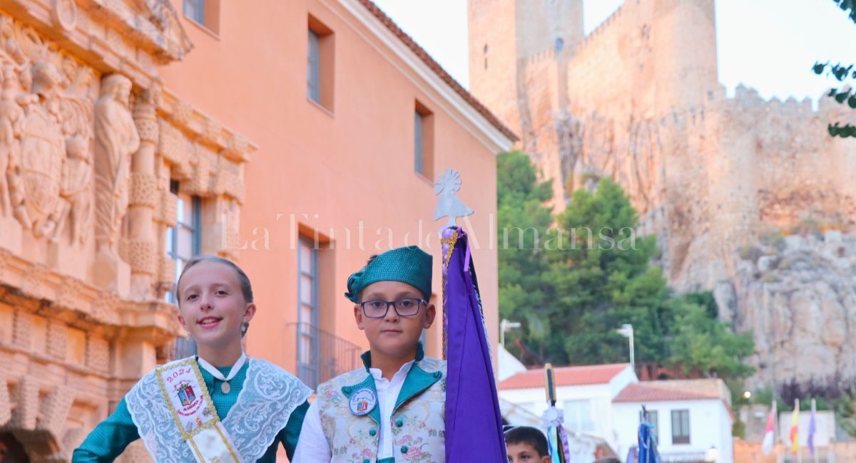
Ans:
POLYGON ((110 74, 95 103, 95 243, 98 253, 116 256, 116 239, 128 211, 130 156, 140 136, 128 108, 131 81, 110 74))

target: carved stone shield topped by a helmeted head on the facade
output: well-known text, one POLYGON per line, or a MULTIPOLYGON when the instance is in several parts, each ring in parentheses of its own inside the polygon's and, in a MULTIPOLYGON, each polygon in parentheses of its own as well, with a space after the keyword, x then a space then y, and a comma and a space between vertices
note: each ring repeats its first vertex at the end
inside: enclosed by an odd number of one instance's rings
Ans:
POLYGON ((22 100, 26 117, 21 159, 9 162, 9 196, 21 226, 41 237, 51 234, 62 210, 59 192, 65 142, 57 117, 57 85, 62 78, 51 62, 37 62, 32 73, 33 96, 22 100))

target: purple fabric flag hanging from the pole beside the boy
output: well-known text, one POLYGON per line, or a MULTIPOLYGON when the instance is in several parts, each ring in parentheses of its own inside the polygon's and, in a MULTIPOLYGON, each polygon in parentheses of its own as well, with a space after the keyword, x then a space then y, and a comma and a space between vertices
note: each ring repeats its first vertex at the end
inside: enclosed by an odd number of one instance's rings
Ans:
POLYGON ((502 414, 467 233, 443 229, 446 461, 506 463, 502 414))

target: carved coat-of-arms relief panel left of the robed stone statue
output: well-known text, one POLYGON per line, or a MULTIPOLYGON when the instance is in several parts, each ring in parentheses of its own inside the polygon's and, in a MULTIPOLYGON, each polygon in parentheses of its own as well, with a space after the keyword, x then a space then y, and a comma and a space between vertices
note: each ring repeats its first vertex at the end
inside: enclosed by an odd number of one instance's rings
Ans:
POLYGON ((71 240, 82 244, 91 227, 94 71, 8 17, 0 31, 0 214, 53 241, 71 220, 71 240))

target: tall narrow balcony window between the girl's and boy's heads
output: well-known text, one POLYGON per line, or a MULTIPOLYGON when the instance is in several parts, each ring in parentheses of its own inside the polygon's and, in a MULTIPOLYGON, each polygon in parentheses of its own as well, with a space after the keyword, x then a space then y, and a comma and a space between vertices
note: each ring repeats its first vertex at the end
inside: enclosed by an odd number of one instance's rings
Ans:
POLYGON ((306 384, 318 384, 318 249, 309 240, 300 239, 297 267, 298 376, 306 384))

